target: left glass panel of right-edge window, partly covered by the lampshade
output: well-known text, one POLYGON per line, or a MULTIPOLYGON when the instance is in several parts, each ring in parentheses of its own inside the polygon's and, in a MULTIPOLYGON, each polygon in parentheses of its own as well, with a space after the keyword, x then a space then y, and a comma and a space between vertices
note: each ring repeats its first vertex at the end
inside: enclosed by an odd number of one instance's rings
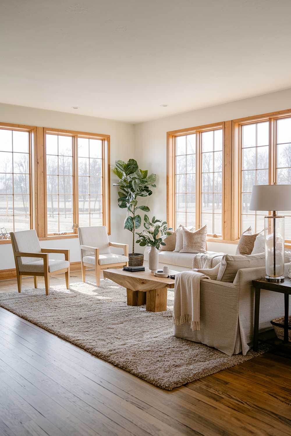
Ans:
POLYGON ((241 220, 240 233, 251 227, 253 232, 264 229, 265 211, 250 211, 253 185, 269 183, 269 122, 241 127, 241 220))

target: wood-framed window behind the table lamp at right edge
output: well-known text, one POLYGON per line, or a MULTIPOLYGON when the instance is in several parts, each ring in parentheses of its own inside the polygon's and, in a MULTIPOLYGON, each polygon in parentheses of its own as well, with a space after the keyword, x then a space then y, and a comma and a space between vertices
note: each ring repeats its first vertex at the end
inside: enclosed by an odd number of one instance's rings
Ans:
MULTIPOLYGON (((264 229, 270 211, 250 211, 255 184, 291 184, 291 113, 279 111, 247 119, 233 120, 234 239, 250 227, 264 229)), ((291 243, 291 211, 285 215, 285 239, 291 243)))

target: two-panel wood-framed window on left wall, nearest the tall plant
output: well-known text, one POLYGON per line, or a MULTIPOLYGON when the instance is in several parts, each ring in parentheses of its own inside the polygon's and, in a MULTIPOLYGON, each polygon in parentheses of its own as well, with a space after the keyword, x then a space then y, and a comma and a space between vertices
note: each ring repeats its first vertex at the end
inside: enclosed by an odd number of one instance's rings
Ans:
POLYGON ((110 137, 44 129, 46 235, 74 235, 79 226, 110 232, 110 137))

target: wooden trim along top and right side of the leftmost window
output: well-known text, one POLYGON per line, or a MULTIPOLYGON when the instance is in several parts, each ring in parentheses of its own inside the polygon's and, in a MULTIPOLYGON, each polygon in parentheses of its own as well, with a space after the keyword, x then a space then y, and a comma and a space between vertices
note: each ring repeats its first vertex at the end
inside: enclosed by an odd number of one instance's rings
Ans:
MULTIPOLYGON (((35 207, 34 207, 34 175, 35 175, 35 137, 36 126, 28 126, 26 124, 14 124, 14 123, 0 123, 1 129, 6 130, 18 130, 21 132, 29 133, 28 144, 28 163, 29 163, 29 215, 30 215, 30 228, 34 228, 35 223, 35 207)), ((10 244, 10 239, 0 240, 0 245, 10 244)))

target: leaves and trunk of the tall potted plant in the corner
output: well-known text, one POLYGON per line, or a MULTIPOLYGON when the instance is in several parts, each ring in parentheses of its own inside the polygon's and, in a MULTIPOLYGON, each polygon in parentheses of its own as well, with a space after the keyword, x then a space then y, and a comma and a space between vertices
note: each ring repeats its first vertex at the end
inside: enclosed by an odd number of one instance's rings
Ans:
POLYGON ((129 215, 124 221, 124 228, 132 232, 132 255, 134 255, 134 239, 135 231, 140 228, 141 218, 137 214, 140 209, 144 212, 149 212, 147 206, 138 206, 137 197, 147 197, 153 192, 152 187, 156 187, 156 175, 147 175, 147 170, 140 170, 137 161, 130 159, 127 163, 123 160, 116 160, 113 168, 114 174, 120 179, 113 186, 118 186, 118 206, 127 208, 129 215), (151 188, 150 188, 151 187, 151 188))

